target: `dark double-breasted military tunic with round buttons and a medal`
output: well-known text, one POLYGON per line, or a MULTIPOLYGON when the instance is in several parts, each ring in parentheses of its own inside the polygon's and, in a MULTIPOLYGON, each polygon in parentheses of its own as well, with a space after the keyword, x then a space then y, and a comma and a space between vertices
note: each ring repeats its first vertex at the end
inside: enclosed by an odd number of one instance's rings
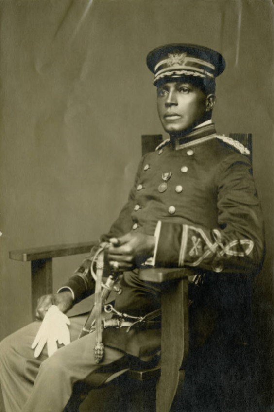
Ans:
MULTIPOLYGON (((252 165, 246 149, 236 146, 211 124, 146 154, 127 204, 102 240, 130 231, 155 234, 154 265, 189 266, 208 279, 213 276, 213 289, 220 293, 213 291, 211 298, 222 300, 226 286, 220 279, 256 274, 264 253, 252 165)), ((76 301, 94 291, 85 262, 67 286, 76 301)), ((117 310, 143 316, 160 306, 159 291, 137 273, 126 273, 121 286, 117 310)), ((155 330, 106 331, 105 342, 145 358, 159 346, 159 336, 155 330)))

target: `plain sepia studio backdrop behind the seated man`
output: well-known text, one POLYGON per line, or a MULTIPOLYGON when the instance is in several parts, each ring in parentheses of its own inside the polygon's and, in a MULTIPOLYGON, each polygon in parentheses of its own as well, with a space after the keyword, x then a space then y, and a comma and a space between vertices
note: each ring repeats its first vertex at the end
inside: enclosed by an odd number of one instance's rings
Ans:
MULTIPOLYGON (((274 5, 270 0, 0 1, 0 336, 31 321, 9 250, 96 240, 125 203, 141 134, 162 133, 153 48, 221 52, 217 133, 252 133, 267 255, 254 287, 262 410, 273 393, 274 5)), ((164 135, 165 137, 165 135, 164 135)), ((57 258, 54 288, 82 257, 57 258)))

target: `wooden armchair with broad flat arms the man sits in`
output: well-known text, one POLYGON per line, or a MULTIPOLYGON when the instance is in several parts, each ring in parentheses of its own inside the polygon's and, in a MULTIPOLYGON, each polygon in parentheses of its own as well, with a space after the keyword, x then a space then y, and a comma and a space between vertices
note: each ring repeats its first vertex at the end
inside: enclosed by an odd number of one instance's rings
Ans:
MULTIPOLYGON (((251 135, 231 134, 250 150, 252 156, 251 135)), ((143 135, 142 154, 153 151, 162 141, 162 135, 143 135)), ((31 262, 32 312, 35 319, 37 299, 53 292, 52 259, 89 253, 96 242, 38 247, 15 250, 9 253, 14 260, 31 262)), ((137 381, 156 380, 156 411, 168 412, 176 394, 178 382, 184 380, 184 363, 188 355, 188 277, 193 275, 190 269, 152 268, 141 270, 142 280, 164 285, 161 297, 162 337, 160 365, 147 370, 130 370, 129 379, 137 381), (173 316, 176 313, 176 316, 173 316), (172 345, 171 339, 172 336, 172 345)), ((144 411, 142 399, 138 400, 139 410, 144 411)))

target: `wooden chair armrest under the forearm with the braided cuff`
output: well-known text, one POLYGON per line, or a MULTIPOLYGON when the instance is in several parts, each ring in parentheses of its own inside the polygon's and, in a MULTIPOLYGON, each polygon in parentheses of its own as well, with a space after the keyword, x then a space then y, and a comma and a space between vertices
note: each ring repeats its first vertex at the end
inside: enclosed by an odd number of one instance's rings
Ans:
POLYGON ((141 269, 139 278, 146 282, 163 283, 171 280, 182 280, 193 276, 193 271, 187 268, 149 268, 141 269))

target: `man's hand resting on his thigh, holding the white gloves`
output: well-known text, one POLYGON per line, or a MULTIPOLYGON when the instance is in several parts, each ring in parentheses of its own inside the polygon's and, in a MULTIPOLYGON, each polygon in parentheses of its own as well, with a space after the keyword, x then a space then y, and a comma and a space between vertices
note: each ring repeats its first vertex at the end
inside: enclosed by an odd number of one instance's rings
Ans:
POLYGON ((58 306, 61 312, 66 313, 73 306, 72 293, 70 291, 64 291, 41 296, 38 299, 38 304, 35 311, 36 319, 43 320, 51 305, 58 306))

